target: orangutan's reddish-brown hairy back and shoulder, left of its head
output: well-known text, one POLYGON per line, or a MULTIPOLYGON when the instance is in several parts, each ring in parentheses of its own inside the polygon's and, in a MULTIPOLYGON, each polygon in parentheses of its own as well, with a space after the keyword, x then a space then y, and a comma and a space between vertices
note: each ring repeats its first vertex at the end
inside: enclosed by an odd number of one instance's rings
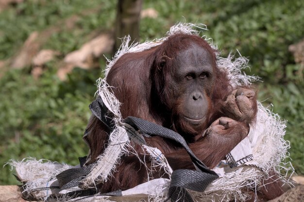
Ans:
POLYGON ((106 81, 121 103, 123 118, 135 116, 155 122, 149 112, 151 103, 151 66, 155 48, 121 56, 109 71, 106 81))

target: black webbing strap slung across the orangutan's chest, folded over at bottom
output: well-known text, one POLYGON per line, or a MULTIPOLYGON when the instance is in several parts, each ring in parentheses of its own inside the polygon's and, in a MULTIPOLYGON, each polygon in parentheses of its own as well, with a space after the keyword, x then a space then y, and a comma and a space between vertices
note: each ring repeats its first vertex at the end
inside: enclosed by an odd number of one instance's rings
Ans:
POLYGON ((199 171, 180 169, 172 172, 169 186, 169 198, 171 201, 175 202, 181 198, 185 202, 193 202, 191 195, 186 189, 203 192, 210 183, 219 178, 216 172, 208 169, 203 162, 192 153, 185 139, 180 134, 161 125, 153 124, 136 117, 129 116, 124 122, 130 124, 135 130, 140 130, 141 133, 149 136, 157 135, 177 141, 186 149, 192 162, 199 169, 199 171))

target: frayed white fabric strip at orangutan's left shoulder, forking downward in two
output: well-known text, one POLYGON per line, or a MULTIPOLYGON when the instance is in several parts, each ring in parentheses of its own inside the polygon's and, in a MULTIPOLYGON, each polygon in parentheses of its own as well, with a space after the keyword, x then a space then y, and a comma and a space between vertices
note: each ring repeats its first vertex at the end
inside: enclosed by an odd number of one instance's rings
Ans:
MULTIPOLYGON (((130 145, 130 139, 136 143, 144 145, 143 147, 151 155, 152 168, 147 168, 147 170, 151 171, 151 169, 155 169, 155 167, 160 167, 164 168, 165 172, 168 174, 171 174, 172 170, 169 167, 169 163, 165 156, 161 154, 160 150, 145 145, 145 140, 142 137, 142 134, 135 131, 135 129, 129 124, 122 122, 123 120, 119 111, 120 103, 113 93, 109 91, 110 87, 106 83, 105 79, 99 79, 98 82, 98 95, 101 96, 105 106, 114 114, 113 121, 115 123, 115 127, 113 132, 110 134, 108 146, 105 148, 103 154, 97 158, 97 165, 95 165, 84 180, 82 180, 82 187, 94 187, 95 184, 105 182, 111 175, 111 172, 115 170, 120 156, 129 153, 128 149, 132 148, 130 145)), ((133 151, 133 154, 137 155, 135 150, 133 151)), ((150 176, 149 174, 150 173, 148 173, 148 176, 150 176)))

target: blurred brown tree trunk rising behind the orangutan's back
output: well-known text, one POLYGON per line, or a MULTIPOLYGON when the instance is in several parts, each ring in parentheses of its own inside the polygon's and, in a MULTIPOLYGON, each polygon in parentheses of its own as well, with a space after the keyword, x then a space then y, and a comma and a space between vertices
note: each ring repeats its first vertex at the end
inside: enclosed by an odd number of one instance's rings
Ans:
POLYGON ((113 53, 121 45, 120 38, 126 35, 131 36, 131 41, 139 42, 141 6, 142 0, 118 0, 113 53))

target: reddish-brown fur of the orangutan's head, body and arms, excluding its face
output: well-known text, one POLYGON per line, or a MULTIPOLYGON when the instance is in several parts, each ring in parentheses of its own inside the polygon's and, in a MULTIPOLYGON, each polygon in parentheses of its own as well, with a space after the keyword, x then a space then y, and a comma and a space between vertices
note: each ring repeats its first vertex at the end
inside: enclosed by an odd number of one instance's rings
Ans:
MULTIPOLYGON (((188 141, 194 154, 209 168, 214 168, 236 144, 247 136, 248 124, 254 121, 257 111, 256 97, 254 96, 251 98, 254 117, 233 121, 229 127, 225 126, 224 130, 217 130, 216 133, 211 132, 202 137, 203 132, 210 124, 225 116, 221 109, 223 102, 234 90, 229 84, 226 73, 218 69, 215 52, 216 50, 212 49, 199 36, 175 34, 157 47, 142 52, 124 54, 111 68, 106 79, 110 86, 114 86, 113 93, 122 103, 120 111, 123 118, 135 116, 177 131, 188 141), (179 51, 190 47, 191 43, 203 47, 211 54, 216 74, 216 84, 212 86, 211 90, 205 92, 208 97, 207 114, 209 117, 199 127, 184 124, 177 118, 178 113, 182 110, 183 99, 174 100, 174 95, 170 93, 167 85, 170 82, 170 75, 176 71, 172 66, 174 58, 179 51), (164 61, 165 65, 162 63, 164 61)), ((245 88, 249 89, 249 87, 245 88)), ((88 129, 91 129, 91 135, 87 138, 90 142, 91 162, 94 162, 106 147, 110 131, 105 128, 96 117, 93 117, 88 124, 88 129)), ((146 138, 146 141, 148 145, 157 147, 163 152, 173 170, 194 169, 190 157, 179 145, 161 137, 146 138)), ((139 154, 142 153, 138 145, 134 145, 134 147, 139 154)), ((144 155, 140 157, 145 158, 144 155)), ((145 161, 149 167, 149 157, 146 157, 145 161)), ((163 171, 153 172, 154 177, 162 175, 164 175, 163 171)), ((124 190, 146 180, 146 168, 140 165, 136 157, 123 156, 118 170, 107 182, 100 185, 100 188, 101 192, 124 190)), ((273 197, 268 196, 268 199, 273 197)))

